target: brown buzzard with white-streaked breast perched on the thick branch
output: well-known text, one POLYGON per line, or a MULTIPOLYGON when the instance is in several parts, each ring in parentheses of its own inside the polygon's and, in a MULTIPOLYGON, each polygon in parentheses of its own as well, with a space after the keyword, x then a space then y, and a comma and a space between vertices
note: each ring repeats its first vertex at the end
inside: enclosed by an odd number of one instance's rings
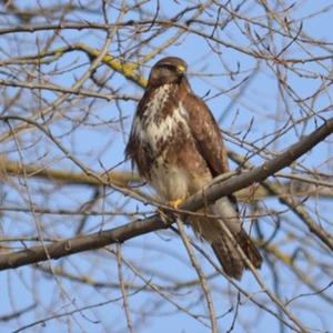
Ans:
MULTIPOLYGON (((228 172, 222 134, 208 105, 198 98, 185 77, 186 63, 175 57, 157 62, 133 119, 125 154, 139 173, 174 208, 228 172)), ((235 242, 255 268, 262 258, 242 229, 233 198, 219 199, 209 213, 219 218, 191 218, 194 232, 209 242, 224 272, 241 279, 246 264, 235 242), (224 223, 233 239, 226 236, 224 223)))

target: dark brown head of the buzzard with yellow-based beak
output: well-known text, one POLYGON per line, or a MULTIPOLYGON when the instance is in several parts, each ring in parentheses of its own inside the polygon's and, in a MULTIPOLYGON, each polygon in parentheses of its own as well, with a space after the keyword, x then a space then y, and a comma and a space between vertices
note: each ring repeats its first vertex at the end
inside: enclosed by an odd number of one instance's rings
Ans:
POLYGON ((159 87, 168 83, 180 83, 188 70, 188 64, 180 58, 168 57, 158 61, 151 69, 148 85, 159 87))

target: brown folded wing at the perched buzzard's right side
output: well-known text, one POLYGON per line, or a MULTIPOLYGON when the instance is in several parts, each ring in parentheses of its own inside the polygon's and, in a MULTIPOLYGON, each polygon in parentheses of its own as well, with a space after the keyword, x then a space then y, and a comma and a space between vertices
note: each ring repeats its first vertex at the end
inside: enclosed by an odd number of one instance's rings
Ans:
POLYGON ((182 103, 189 113, 189 125, 196 148, 206 162, 212 176, 229 172, 222 134, 208 105, 192 93, 185 94, 182 103))

